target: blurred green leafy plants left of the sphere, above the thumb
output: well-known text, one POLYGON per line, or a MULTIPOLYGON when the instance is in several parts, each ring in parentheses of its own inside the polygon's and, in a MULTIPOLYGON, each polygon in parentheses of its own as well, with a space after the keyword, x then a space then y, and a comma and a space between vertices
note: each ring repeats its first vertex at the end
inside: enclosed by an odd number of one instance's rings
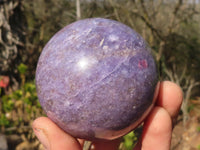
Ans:
MULTIPOLYGON (((22 73, 25 73, 24 68, 22 73)), ((28 125, 33 119, 43 114, 34 82, 25 83, 20 89, 2 96, 1 99, 1 127, 28 125)))

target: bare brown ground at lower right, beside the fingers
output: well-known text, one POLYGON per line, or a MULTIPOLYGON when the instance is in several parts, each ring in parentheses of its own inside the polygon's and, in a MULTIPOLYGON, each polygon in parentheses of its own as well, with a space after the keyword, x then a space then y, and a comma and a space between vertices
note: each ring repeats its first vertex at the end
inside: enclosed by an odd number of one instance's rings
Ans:
POLYGON ((182 116, 178 117, 172 135, 171 150, 200 150, 200 103, 192 101, 190 119, 185 128, 182 116))

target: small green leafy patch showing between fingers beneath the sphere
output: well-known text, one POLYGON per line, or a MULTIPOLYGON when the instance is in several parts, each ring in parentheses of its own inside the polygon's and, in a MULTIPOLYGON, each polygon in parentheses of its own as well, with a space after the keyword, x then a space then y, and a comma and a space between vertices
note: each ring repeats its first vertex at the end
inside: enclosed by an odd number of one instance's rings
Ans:
POLYGON ((134 131, 128 133, 124 137, 124 147, 126 150, 132 150, 137 142, 137 136, 135 135, 134 131))

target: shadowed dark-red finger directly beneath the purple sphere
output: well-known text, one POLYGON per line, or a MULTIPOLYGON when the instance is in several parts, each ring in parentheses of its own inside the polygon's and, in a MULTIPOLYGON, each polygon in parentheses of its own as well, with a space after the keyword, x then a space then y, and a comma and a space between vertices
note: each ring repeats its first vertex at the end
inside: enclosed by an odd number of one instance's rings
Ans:
POLYGON ((121 138, 111 141, 98 141, 92 143, 93 150, 118 150, 121 138))

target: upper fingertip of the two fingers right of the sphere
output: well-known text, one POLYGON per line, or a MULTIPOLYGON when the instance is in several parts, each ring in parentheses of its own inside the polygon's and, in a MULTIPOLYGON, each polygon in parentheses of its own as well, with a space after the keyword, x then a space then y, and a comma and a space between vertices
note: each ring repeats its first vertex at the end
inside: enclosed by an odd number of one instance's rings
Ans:
POLYGON ((157 105, 165 108, 172 118, 176 118, 181 107, 183 93, 173 82, 164 81, 160 84, 157 105))

